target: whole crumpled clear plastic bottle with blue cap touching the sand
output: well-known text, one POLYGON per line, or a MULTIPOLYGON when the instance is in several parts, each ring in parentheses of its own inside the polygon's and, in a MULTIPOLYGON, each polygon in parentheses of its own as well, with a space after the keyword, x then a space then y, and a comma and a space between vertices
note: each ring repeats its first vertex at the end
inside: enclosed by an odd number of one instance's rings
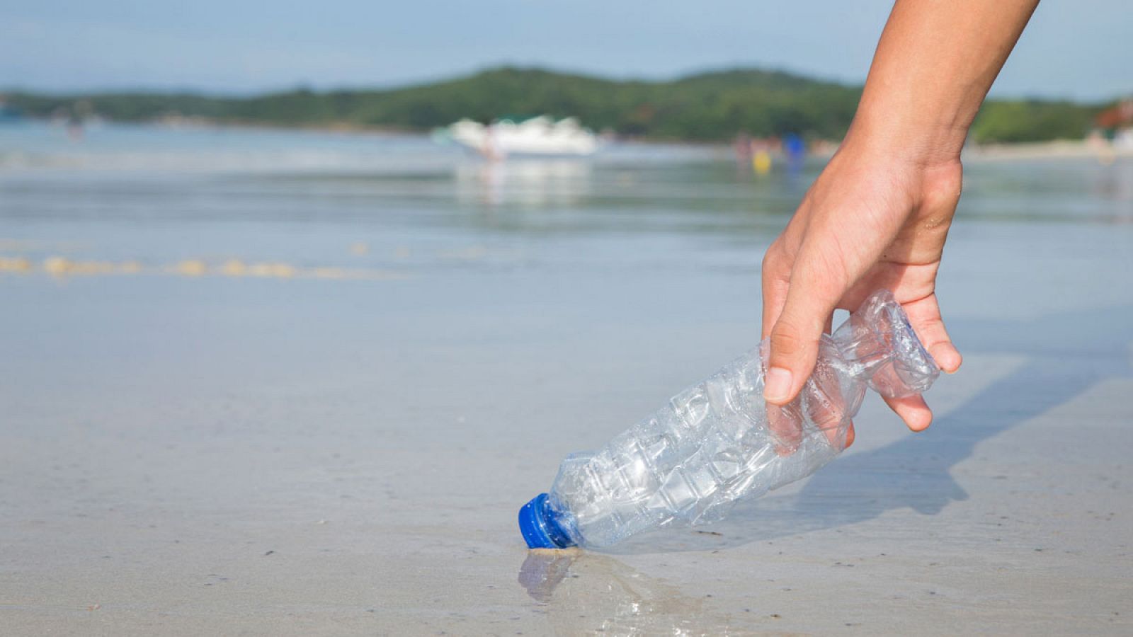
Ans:
POLYGON ((783 407, 763 399, 766 348, 679 393, 602 450, 568 456, 551 492, 519 511, 527 545, 597 549, 717 520, 736 500, 809 476, 842 452, 867 385, 912 396, 940 373, 888 290, 823 336, 815 372, 783 407))

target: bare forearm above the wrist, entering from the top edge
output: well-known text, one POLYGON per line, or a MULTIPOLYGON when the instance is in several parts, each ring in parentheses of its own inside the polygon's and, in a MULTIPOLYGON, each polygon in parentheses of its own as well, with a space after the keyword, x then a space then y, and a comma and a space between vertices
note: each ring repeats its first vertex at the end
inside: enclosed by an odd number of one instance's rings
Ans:
POLYGON ((847 138, 955 160, 1039 0, 897 0, 847 138))

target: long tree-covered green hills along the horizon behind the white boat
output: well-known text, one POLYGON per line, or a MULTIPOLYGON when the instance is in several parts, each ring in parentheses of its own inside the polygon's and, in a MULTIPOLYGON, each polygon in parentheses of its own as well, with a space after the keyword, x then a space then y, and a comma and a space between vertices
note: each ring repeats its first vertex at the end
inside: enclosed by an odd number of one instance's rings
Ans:
MULTIPOLYGON (((427 130, 462 117, 504 113, 578 117, 597 130, 651 139, 725 141, 796 133, 841 138, 861 88, 758 69, 704 73, 667 82, 611 80, 504 67, 444 82, 386 91, 296 90, 253 97, 199 94, 9 93, 24 112, 48 117, 82 108, 120 121, 171 114, 232 124, 368 126, 427 130)), ((1067 102, 989 102, 973 128, 980 142, 1081 137, 1097 107, 1067 102)))

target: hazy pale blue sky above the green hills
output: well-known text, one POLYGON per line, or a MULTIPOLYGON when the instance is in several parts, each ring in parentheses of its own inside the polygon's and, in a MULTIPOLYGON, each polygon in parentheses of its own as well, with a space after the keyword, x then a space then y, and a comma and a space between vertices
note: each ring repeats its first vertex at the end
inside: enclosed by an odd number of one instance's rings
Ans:
MULTIPOLYGON (((389 86, 502 62, 616 77, 750 65, 859 83, 891 5, 0 0, 0 86, 248 93, 389 86)), ((1133 93, 1133 0, 1046 0, 994 92, 1133 93)))

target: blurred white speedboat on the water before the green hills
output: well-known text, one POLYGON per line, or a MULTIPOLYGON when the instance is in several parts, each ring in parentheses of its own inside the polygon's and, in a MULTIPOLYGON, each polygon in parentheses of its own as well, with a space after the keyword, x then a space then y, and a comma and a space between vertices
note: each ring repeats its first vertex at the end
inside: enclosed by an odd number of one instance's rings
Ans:
POLYGON ((598 150, 598 137, 572 117, 557 121, 546 116, 521 121, 501 119, 486 126, 462 119, 445 128, 444 134, 488 159, 586 156, 598 150))

